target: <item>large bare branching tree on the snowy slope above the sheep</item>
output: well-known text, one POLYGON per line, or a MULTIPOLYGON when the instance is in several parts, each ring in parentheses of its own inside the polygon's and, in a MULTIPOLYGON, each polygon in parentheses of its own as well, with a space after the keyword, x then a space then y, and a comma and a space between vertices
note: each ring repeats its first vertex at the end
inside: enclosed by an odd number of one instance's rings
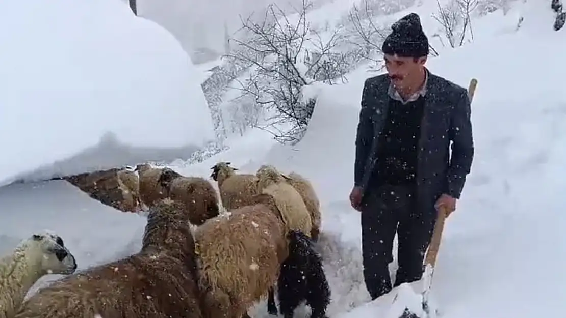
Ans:
POLYGON ((303 88, 315 78, 328 80, 324 76, 325 72, 329 75, 328 63, 337 58, 332 54, 336 33, 322 36, 314 32, 306 17, 310 7, 303 0, 296 14, 288 16, 272 4, 263 21, 242 20, 245 36, 231 39, 234 47, 227 56, 249 72, 246 79, 235 80, 235 88, 242 92, 236 101, 248 104, 252 100, 261 108, 265 124, 258 127, 281 143, 293 144, 302 138, 316 103, 316 97, 303 96, 303 88))

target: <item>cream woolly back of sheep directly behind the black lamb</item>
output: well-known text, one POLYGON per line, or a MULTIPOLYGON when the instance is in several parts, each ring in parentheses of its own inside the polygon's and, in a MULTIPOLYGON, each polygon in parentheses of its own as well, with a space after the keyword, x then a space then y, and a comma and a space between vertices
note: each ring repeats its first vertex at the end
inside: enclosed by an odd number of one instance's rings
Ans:
POLYGON ((310 235, 312 230, 311 216, 301 194, 286 182, 271 184, 261 191, 273 197, 281 212, 286 230, 299 230, 310 235))

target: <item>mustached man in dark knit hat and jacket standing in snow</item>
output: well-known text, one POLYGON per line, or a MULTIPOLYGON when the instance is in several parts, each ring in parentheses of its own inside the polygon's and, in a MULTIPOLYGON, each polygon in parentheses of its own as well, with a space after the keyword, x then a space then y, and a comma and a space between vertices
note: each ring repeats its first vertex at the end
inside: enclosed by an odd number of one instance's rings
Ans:
POLYGON ((362 214, 363 271, 372 299, 392 289, 395 233, 393 286, 421 278, 437 209, 456 209, 474 155, 468 92, 424 67, 428 40, 419 16, 397 21, 382 50, 388 74, 367 79, 363 88, 350 194, 362 214))

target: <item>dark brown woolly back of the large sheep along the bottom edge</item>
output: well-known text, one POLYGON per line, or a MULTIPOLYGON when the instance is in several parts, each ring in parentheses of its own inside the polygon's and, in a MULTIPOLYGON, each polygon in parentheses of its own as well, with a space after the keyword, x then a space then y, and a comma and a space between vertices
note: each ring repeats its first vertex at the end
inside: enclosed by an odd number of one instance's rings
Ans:
POLYGON ((136 254, 55 281, 15 317, 201 318, 194 282, 187 266, 167 252, 136 254))

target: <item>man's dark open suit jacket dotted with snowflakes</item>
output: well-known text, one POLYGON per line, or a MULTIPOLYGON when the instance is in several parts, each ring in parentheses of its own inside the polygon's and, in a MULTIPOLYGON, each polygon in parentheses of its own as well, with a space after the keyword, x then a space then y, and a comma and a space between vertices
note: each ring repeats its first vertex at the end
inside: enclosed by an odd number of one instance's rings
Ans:
MULTIPOLYGON (((354 184, 362 187, 363 196, 371 190, 370 178, 379 178, 374 168, 378 136, 387 120, 389 83, 387 75, 379 75, 367 79, 363 88, 354 164, 354 184)), ((421 203, 430 204, 443 193, 460 198, 474 156, 470 113, 468 90, 428 73, 417 165, 421 203)))

